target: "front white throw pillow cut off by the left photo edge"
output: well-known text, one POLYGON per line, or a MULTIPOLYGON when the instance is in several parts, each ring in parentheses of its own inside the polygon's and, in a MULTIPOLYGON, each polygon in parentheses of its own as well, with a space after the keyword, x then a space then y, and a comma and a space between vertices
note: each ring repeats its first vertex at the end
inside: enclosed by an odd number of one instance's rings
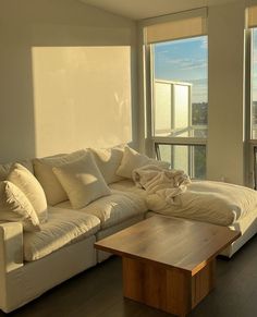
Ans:
POLYGON ((0 221, 22 222, 25 231, 39 231, 39 220, 24 193, 13 183, 0 182, 0 221))

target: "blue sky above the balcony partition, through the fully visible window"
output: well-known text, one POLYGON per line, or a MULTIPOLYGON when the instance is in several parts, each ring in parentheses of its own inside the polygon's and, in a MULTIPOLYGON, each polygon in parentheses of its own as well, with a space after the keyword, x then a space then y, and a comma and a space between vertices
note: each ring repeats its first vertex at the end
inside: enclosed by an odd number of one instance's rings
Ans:
POLYGON ((207 36, 154 45, 155 77, 193 84, 193 102, 208 101, 207 36))

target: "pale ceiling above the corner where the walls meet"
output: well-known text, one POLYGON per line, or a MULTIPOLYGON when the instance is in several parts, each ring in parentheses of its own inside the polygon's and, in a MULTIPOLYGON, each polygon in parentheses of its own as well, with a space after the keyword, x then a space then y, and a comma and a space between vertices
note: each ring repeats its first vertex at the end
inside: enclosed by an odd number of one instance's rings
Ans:
POLYGON ((133 20, 143 20, 222 2, 242 0, 81 0, 133 20))

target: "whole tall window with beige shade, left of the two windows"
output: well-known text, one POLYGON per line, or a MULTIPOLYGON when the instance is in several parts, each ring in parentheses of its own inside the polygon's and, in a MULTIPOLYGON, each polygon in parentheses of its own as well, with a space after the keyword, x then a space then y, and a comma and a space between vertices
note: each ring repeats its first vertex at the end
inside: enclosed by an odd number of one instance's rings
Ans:
POLYGON ((146 27, 151 141, 157 158, 206 178, 208 38, 206 11, 174 14, 146 27), (183 26, 182 26, 183 25, 183 26))

